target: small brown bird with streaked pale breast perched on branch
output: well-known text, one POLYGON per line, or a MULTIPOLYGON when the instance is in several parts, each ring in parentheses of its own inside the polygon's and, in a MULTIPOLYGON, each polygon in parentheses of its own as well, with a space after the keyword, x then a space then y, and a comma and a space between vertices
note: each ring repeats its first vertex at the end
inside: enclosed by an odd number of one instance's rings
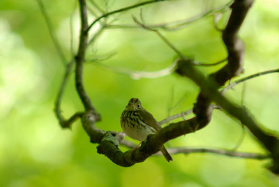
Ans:
MULTIPOLYGON (((147 135, 155 134, 162 129, 156 119, 147 112, 138 98, 131 98, 121 114, 121 127, 129 137, 134 140, 144 141, 147 135)), ((172 160, 165 146, 160 148, 166 160, 172 160)))

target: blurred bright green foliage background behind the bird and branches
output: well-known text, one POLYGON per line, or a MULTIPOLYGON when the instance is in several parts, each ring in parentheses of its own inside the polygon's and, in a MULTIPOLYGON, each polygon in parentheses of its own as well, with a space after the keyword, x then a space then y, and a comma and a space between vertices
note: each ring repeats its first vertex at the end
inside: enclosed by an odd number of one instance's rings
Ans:
MULTIPOLYGON (((54 33, 70 60, 73 12, 75 49, 78 42, 76 2, 43 2, 54 33)), ((96 1, 107 10, 137 1, 106 2, 96 1)), ((156 24, 194 17, 226 2, 169 1, 144 6, 142 11, 146 23, 156 24)), ((239 77, 278 68, 278 10, 277 0, 258 0, 252 6, 240 31, 246 56, 245 72, 239 77)), ((139 17, 140 8, 113 17, 116 23, 134 24, 132 15, 139 17)), ((226 15, 218 27, 223 27, 226 15)), ((213 27, 213 17, 203 17, 179 31, 162 33, 183 54, 197 61, 210 63, 226 57, 221 34, 213 27)), ((61 129, 53 108, 65 69, 36 1, 0 1, 0 45, 0 186, 279 186, 279 178, 265 169, 269 160, 179 154, 173 156, 172 163, 153 156, 144 163, 125 168, 96 153, 97 145, 89 142, 80 121, 72 130, 61 129)), ((114 55, 101 63, 145 71, 166 68, 176 58, 155 33, 143 29, 105 30, 95 45, 89 46, 86 59, 111 54, 114 55)), ((200 70, 209 74, 222 66, 200 70)), ((133 80, 92 62, 84 66, 84 84, 93 105, 102 114, 102 121, 96 125, 103 130, 121 130, 119 118, 132 97, 140 98, 143 106, 162 120, 193 107, 199 92, 193 82, 178 75, 133 80)), ((66 117, 82 110, 73 85, 72 73, 62 100, 66 117)), ((226 96, 240 104, 242 85, 227 91, 226 96)), ((278 75, 250 80, 245 90, 244 105, 264 128, 278 131, 278 75)), ((239 122, 216 110, 206 128, 176 138, 169 146, 233 149, 241 135, 239 122)), ((239 151, 264 153, 248 130, 239 151)))

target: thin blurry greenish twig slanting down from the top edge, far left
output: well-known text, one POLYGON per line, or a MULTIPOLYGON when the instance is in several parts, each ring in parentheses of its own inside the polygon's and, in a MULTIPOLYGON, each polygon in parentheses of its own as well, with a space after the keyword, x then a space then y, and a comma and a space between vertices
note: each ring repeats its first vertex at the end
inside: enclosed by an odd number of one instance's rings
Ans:
POLYGON ((37 0, 37 2, 38 2, 38 5, 40 7, 40 11, 43 14, 43 17, 45 17, 45 22, 47 23, 47 28, 50 31, 50 37, 52 38, 52 42, 54 43, 56 51, 59 54, 61 62, 63 63, 64 66, 66 66, 67 65, 67 60, 66 60, 66 57, 63 54, 63 50, 62 50, 61 46, 59 45, 59 42, 58 42, 58 40, 56 38, 56 35, 54 33, 54 29, 53 29, 53 26, 52 26, 52 22, 50 20, 50 16, 47 14, 47 11, 45 10, 45 6, 43 4, 43 1, 42 0, 37 0))

